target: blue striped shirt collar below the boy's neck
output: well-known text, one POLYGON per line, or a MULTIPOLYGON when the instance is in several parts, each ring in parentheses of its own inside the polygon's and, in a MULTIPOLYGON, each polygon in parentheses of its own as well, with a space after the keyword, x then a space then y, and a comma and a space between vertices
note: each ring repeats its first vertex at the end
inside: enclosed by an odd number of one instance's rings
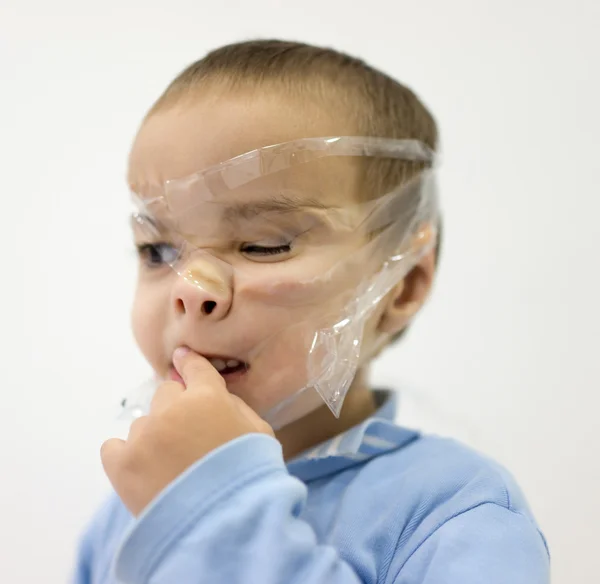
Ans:
POLYGON ((382 405, 372 417, 290 460, 289 473, 304 482, 313 481, 402 448, 419 437, 418 432, 394 424, 395 392, 379 391, 376 398, 382 405))

